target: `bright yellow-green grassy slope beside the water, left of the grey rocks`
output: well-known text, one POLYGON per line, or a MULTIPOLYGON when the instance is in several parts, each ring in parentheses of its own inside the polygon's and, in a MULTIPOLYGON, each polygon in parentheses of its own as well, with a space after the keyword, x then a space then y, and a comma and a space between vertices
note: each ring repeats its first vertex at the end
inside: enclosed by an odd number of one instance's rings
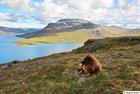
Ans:
POLYGON ((17 41, 18 45, 32 45, 39 43, 50 43, 50 42, 85 42, 88 39, 96 38, 90 30, 81 29, 72 32, 62 32, 49 34, 45 37, 36 37, 26 40, 17 41))

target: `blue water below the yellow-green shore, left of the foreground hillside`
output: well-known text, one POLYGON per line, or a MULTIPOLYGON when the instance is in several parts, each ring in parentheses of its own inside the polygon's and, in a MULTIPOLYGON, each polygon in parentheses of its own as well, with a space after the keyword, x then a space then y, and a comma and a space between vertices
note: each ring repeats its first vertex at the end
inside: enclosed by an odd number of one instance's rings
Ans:
POLYGON ((19 46, 15 41, 23 38, 15 35, 0 36, 0 64, 8 63, 14 60, 27 60, 42 56, 47 56, 53 53, 68 52, 83 45, 78 42, 63 42, 38 44, 29 46, 19 46))

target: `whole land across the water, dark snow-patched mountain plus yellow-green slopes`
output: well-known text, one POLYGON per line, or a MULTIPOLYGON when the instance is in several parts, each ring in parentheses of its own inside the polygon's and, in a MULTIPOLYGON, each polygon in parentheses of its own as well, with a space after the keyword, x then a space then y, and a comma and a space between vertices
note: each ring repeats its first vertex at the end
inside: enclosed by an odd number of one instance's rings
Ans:
POLYGON ((140 36, 140 32, 139 29, 103 26, 83 19, 61 19, 56 23, 49 23, 37 32, 18 35, 18 37, 28 39, 16 43, 19 45, 32 45, 50 42, 84 42, 88 39, 121 36, 140 36))

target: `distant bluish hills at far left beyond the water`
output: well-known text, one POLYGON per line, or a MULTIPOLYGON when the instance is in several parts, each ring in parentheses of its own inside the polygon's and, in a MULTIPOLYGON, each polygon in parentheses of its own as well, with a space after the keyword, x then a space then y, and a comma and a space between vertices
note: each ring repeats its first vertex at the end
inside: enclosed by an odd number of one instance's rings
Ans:
POLYGON ((0 26, 0 33, 2 34, 9 34, 9 33, 32 33, 36 32, 38 29, 35 28, 10 28, 10 27, 3 27, 0 26))

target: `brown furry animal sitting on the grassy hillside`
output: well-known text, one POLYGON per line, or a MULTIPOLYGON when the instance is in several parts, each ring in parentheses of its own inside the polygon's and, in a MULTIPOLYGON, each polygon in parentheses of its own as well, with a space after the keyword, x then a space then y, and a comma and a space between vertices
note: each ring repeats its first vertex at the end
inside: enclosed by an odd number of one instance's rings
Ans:
POLYGON ((78 68, 79 74, 89 74, 92 75, 93 73, 98 73, 99 71, 102 71, 102 66, 98 59, 96 59, 94 56, 91 56, 88 54, 84 60, 80 64, 80 68, 78 68))

